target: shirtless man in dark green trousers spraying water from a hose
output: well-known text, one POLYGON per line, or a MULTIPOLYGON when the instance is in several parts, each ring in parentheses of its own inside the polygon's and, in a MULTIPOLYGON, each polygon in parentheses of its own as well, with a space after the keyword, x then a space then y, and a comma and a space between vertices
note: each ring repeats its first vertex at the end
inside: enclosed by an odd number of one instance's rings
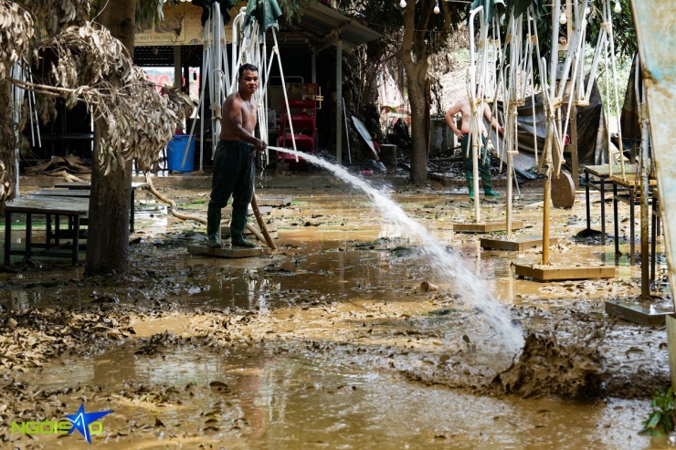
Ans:
POLYGON ((248 204, 253 197, 254 157, 268 144, 253 135, 256 128, 258 103, 253 99, 259 89, 259 68, 253 64, 240 66, 239 87, 223 102, 220 141, 214 155, 214 177, 211 199, 206 215, 208 246, 223 246, 220 239, 221 209, 232 195, 230 241, 233 246, 255 247, 244 238, 248 204))

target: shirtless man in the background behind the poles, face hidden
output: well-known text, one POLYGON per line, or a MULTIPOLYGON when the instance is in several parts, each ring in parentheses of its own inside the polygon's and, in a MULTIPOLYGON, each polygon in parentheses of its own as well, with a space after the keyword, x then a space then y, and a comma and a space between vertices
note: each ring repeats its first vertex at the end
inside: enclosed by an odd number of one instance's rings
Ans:
MULTIPOLYGON (((481 108, 481 105, 479 106, 481 108)), ((488 103, 483 103, 483 115, 491 123, 491 128, 495 127, 499 132, 504 132, 502 126, 492 117, 491 108, 489 108, 488 103)), ((450 129, 453 133, 458 136, 460 141, 460 147, 462 148, 462 158, 465 162, 465 178, 467 183, 470 185, 470 198, 474 198, 474 169, 472 166, 472 153, 470 145, 470 123, 471 123, 471 103, 470 99, 463 99, 456 103, 453 108, 446 112, 446 123, 449 124, 450 129), (453 116, 457 113, 462 115, 462 125, 460 130, 455 125, 455 120, 453 116), (467 149, 470 148, 469 156, 467 149)), ((484 153, 486 152, 486 129, 483 126, 483 120, 479 121, 479 127, 481 132, 481 151, 479 154, 479 171, 481 172, 481 182, 483 183, 483 192, 486 196, 497 197, 498 193, 492 190, 491 182, 491 171, 490 171, 490 158, 489 155, 486 155, 484 160, 484 153)))

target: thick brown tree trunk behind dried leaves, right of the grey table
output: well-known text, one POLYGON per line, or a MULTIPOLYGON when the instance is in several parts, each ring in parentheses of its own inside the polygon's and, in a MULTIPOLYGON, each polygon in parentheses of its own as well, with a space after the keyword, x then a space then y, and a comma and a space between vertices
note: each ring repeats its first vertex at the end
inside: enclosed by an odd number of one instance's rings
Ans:
MULTIPOLYGON (((136 0, 112 2, 98 21, 111 30, 133 55, 136 0)), ((105 136, 105 119, 94 124, 95 136, 105 136)), ((91 171, 90 225, 87 235, 86 275, 120 273, 127 270, 129 253, 129 215, 132 195, 132 162, 116 166, 104 174, 99 145, 94 145, 91 171)))

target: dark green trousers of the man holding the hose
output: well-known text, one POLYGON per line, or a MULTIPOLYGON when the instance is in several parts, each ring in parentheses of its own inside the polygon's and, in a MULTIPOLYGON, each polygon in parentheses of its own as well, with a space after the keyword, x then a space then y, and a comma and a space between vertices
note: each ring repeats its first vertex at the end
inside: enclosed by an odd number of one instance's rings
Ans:
POLYGON ((253 151, 253 145, 244 141, 218 141, 216 146, 208 214, 220 215, 232 196, 232 235, 241 236, 247 226, 256 176, 253 151))

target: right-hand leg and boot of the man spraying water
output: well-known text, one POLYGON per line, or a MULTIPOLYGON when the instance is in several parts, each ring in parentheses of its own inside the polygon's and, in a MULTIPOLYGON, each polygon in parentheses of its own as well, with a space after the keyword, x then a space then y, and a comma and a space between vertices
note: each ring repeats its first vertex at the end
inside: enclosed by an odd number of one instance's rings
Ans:
POLYGON ((230 223, 230 241, 233 246, 254 248, 257 245, 244 238, 247 228, 248 204, 253 198, 253 183, 256 175, 253 163, 253 146, 246 142, 239 144, 238 152, 242 158, 240 173, 232 193, 232 222, 230 223))

